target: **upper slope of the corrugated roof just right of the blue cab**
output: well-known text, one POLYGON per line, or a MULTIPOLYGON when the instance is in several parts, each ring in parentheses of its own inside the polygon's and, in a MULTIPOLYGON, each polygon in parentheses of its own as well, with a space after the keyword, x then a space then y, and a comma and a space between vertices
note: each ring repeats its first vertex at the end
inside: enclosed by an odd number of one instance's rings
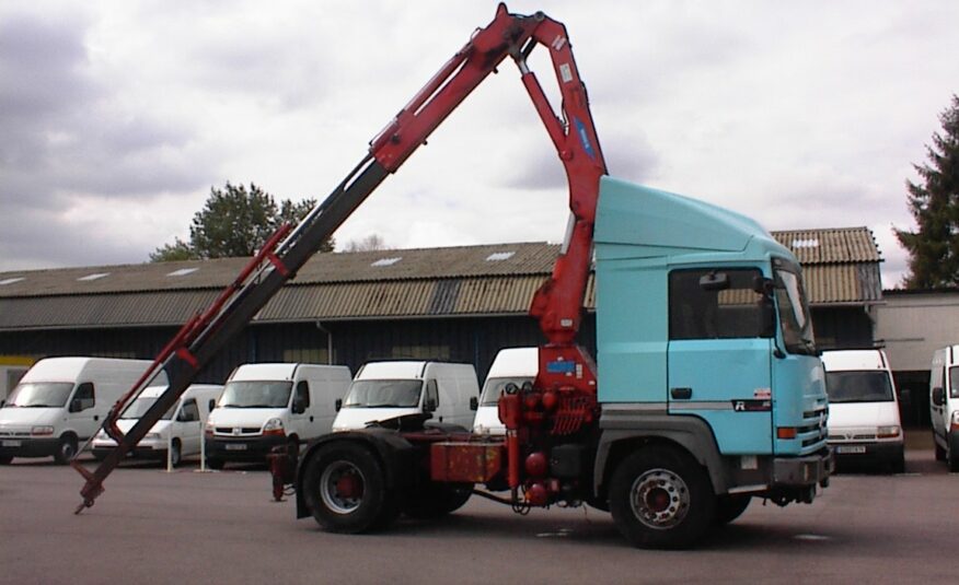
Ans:
POLYGON ((879 262, 879 247, 868 227, 772 232, 802 266, 831 262, 879 262))

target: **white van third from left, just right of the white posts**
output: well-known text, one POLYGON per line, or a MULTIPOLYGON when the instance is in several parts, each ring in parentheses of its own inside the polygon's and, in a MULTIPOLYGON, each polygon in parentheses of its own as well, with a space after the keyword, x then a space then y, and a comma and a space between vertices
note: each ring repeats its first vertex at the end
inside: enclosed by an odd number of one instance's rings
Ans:
POLYGON ((220 469, 226 461, 265 461, 277 445, 328 433, 349 381, 345 365, 239 366, 207 421, 207 465, 220 469))

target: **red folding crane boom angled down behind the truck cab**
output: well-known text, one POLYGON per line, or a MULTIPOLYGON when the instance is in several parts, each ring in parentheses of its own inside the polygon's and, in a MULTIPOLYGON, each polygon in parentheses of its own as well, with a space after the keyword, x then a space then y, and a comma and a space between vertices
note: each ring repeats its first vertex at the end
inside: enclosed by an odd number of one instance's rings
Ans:
POLYGON ((316 253, 327 236, 359 207, 366 198, 424 144, 430 133, 472 91, 511 57, 517 63, 523 86, 556 148, 569 186, 570 230, 556 260, 551 278, 536 292, 530 314, 539 319, 546 337, 541 349, 540 376, 536 384, 570 388, 570 376, 555 363, 586 364, 585 375, 574 376, 574 389, 593 395, 596 375, 592 361, 575 346, 582 311, 582 297, 589 274, 592 230, 599 179, 606 173, 599 140, 589 110, 571 46, 563 24, 542 12, 511 14, 499 4, 494 20, 477 30, 470 40, 400 110, 396 117, 371 142, 369 153, 346 178, 294 229, 280 227, 263 249, 243 269, 206 312, 190 319, 157 356, 140 382, 111 410, 103 428, 117 442, 95 470, 73 461, 86 479, 77 508, 93 505, 103 493, 103 481, 170 409, 197 373, 239 334, 263 306, 316 253), (550 105, 527 58, 536 46, 550 51, 562 95, 557 115, 550 105), (160 371, 170 385, 139 421, 123 434, 116 419, 160 371))

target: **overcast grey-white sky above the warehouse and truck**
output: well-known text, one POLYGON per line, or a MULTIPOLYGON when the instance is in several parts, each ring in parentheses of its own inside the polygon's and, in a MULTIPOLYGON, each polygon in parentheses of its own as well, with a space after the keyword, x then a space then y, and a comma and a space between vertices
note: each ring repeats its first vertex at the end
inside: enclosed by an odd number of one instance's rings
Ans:
MULTIPOLYGON (((894 286, 959 3, 513 1, 566 24, 612 175, 770 230, 866 225, 894 286)), ((211 187, 324 198, 483 1, 0 3, 0 271, 141 262, 211 187)), ((536 57, 536 54, 534 54, 536 57)), ((540 51, 540 58, 545 51, 540 51)), ((552 72, 531 59, 541 81, 552 72)), ((510 60, 336 233, 558 242, 562 165, 510 60)))

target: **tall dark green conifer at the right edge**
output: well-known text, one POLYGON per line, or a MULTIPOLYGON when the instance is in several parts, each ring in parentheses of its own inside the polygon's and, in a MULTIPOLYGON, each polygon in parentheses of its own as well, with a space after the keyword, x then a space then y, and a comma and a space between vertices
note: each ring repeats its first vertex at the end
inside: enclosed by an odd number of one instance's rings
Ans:
POLYGON ((943 133, 926 144, 928 164, 913 165, 921 183, 906 182, 915 232, 896 230, 909 251, 908 289, 959 285, 959 97, 939 114, 943 133))

